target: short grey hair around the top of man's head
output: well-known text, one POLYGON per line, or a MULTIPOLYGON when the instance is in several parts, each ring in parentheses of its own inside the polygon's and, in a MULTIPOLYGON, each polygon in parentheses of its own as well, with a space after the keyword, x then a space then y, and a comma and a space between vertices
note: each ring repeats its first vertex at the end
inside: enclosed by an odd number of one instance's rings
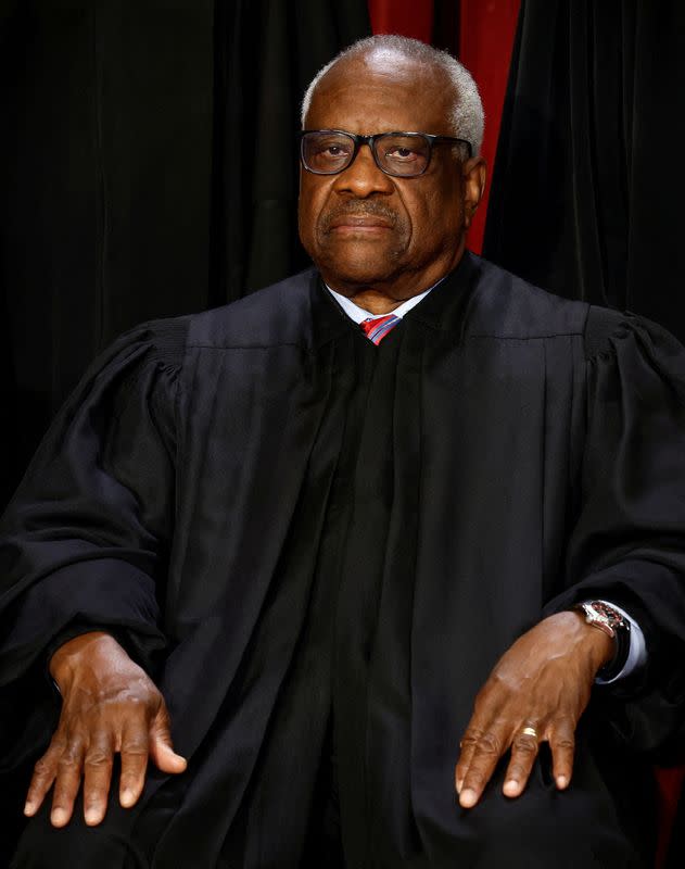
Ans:
POLYGON ((436 66, 447 74, 455 92, 454 106, 449 116, 452 133, 457 138, 466 139, 471 142, 473 155, 478 154, 483 142, 485 115, 483 113, 483 103, 481 102, 481 97, 472 75, 458 60, 446 51, 441 51, 432 46, 428 46, 426 42, 420 42, 418 39, 409 39, 406 36, 385 34, 369 36, 365 39, 359 39, 357 42, 353 42, 348 48, 343 49, 343 51, 337 54, 330 63, 327 63, 326 66, 319 70, 305 91, 304 99, 302 100, 302 126, 304 127, 309 106, 312 105, 314 91, 326 73, 328 73, 338 61, 366 54, 376 48, 392 50, 397 54, 402 54, 419 63, 436 66))

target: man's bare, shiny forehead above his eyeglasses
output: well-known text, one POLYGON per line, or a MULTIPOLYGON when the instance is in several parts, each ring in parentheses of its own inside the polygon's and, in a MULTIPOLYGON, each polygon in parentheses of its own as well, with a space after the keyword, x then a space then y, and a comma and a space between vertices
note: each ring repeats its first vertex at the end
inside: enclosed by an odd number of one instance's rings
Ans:
POLYGON ((350 133, 418 130, 451 135, 445 73, 389 50, 343 59, 317 87, 306 126, 350 133))

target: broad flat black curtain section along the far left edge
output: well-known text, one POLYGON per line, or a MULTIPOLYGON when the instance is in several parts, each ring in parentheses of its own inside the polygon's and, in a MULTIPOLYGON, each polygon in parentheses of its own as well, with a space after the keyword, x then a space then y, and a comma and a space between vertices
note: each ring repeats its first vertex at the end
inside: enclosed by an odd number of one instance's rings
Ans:
POLYGON ((212 11, 24 0, 2 17, 0 495, 105 342, 206 306, 212 11))

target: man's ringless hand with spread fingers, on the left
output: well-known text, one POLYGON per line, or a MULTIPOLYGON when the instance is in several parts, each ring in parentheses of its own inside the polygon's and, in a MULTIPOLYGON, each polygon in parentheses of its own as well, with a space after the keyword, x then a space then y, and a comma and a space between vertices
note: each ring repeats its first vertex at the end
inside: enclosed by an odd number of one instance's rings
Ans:
POLYGON ((138 801, 148 757, 163 772, 182 772, 186 759, 172 745, 164 697, 116 640, 93 631, 60 646, 50 673, 62 694, 62 714, 50 747, 36 764, 24 814, 40 808, 54 784, 50 820, 68 823, 84 778, 84 816, 93 827, 104 818, 114 754, 122 756, 119 802, 138 801))

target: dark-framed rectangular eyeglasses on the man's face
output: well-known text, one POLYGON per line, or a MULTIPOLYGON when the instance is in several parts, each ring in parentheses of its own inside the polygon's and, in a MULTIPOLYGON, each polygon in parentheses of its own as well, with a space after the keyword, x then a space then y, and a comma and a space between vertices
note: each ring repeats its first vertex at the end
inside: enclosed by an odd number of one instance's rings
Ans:
MULTIPOLYGON (((377 133, 356 136, 342 129, 305 129, 300 131, 300 159, 307 172, 315 175, 338 175, 351 166, 363 144, 368 144, 376 165, 385 175, 416 178, 423 175, 431 162, 433 146, 452 142, 471 156, 471 143, 451 136, 430 133, 377 133)), ((462 158, 464 159, 464 158, 462 158)))

